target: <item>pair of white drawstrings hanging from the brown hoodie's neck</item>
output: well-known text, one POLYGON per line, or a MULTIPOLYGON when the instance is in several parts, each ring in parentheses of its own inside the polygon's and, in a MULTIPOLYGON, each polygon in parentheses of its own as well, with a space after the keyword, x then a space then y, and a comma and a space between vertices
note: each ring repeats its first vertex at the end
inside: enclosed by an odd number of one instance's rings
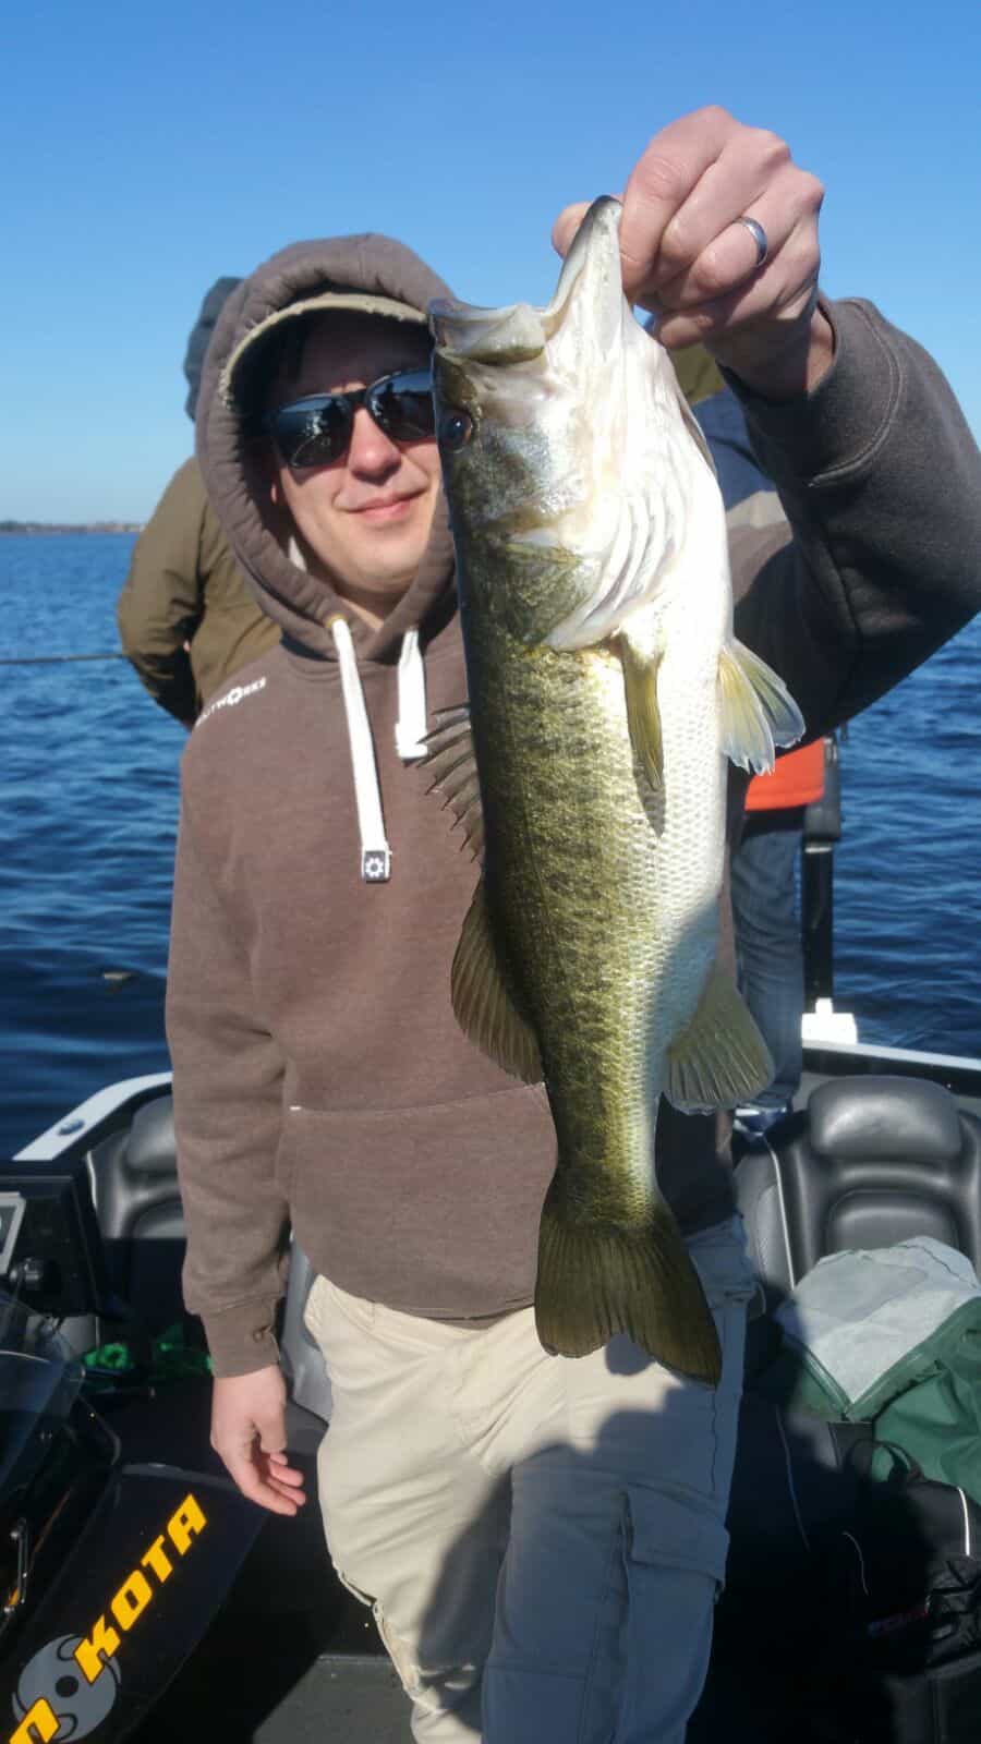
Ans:
MULTIPOLYGON (((347 743, 351 746, 354 804, 358 807, 358 830, 361 835, 361 877, 365 884, 388 884, 391 877, 391 848, 386 837, 375 743, 372 739, 368 710, 365 708, 358 656, 351 630, 342 617, 332 621, 330 631, 337 649, 347 743)), ((426 750, 421 743, 424 732, 426 673, 419 651, 419 631, 407 630, 398 657, 398 722, 394 729, 398 755, 405 760, 422 757, 426 750)))

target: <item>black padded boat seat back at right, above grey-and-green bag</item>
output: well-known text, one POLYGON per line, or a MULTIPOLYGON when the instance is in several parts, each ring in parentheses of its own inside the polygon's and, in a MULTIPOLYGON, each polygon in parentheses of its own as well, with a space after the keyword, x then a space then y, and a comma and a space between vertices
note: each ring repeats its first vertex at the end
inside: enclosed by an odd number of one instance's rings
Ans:
POLYGON ((819 1085, 737 1165, 737 1202, 768 1298, 824 1254, 932 1235, 981 1273, 981 1121, 925 1078, 819 1085))

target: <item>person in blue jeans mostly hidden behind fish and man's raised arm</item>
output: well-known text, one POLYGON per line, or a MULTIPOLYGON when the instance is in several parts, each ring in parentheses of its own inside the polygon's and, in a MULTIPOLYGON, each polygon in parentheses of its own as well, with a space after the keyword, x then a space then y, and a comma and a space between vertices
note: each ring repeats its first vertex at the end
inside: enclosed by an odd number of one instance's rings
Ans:
MULTIPOLYGON (((752 452, 745 413, 703 345, 676 352, 674 366, 705 431, 730 535, 737 528, 785 528, 785 514, 752 452)), ((785 534, 784 534, 785 535, 785 534)), ((805 806, 824 794, 824 741, 784 752, 770 774, 754 776, 731 856, 731 903, 740 992, 773 1057, 773 1083, 737 1111, 744 1132, 765 1132, 784 1114, 803 1069, 805 959, 798 865, 805 806)))

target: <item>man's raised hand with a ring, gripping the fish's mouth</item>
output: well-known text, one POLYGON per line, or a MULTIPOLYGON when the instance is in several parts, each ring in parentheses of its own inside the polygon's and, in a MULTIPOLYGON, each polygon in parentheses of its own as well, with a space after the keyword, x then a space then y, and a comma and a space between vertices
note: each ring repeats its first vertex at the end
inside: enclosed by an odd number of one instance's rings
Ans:
MULTIPOLYGON (((817 309, 820 181, 773 133, 703 108, 655 134, 623 194, 623 290, 651 309, 658 338, 696 340, 768 399, 815 387, 834 337, 817 309), (738 218, 766 234, 756 239, 738 218)), ((567 206, 552 239, 564 255, 585 206, 567 206)))

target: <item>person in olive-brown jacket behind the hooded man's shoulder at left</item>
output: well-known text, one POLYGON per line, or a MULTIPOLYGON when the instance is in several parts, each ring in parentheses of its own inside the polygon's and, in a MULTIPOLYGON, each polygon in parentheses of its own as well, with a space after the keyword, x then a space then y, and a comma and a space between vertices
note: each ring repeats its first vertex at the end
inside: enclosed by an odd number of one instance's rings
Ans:
MULTIPOLYGON (((236 284, 215 281, 187 342, 192 422, 208 342, 236 284)), ((232 673, 279 640, 229 549, 196 459, 178 467, 136 541, 117 623, 140 680, 187 729, 232 673)))

